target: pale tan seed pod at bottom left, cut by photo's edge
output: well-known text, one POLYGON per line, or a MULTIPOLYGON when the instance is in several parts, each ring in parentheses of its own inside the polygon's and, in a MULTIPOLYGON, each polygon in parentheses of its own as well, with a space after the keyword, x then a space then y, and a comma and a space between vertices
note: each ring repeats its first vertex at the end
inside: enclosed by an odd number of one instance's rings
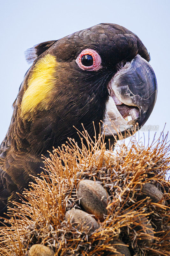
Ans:
POLYGON ((29 256, 54 256, 54 252, 43 244, 34 244, 29 250, 29 256))

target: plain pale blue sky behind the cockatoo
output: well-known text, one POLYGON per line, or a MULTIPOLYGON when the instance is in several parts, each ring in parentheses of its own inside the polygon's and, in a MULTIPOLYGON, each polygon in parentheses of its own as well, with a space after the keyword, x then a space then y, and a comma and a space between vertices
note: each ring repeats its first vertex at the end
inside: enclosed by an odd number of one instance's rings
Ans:
MULTIPOLYGON (((170 127, 170 1, 1 0, 0 4, 0 141, 8 129, 19 85, 28 69, 24 51, 101 22, 117 23, 143 41, 151 54, 159 93, 146 125, 170 127)), ((146 140, 148 132, 144 132, 146 140)), ((150 132, 151 138, 154 132, 150 132)), ((141 132, 142 135, 142 132, 141 132)))

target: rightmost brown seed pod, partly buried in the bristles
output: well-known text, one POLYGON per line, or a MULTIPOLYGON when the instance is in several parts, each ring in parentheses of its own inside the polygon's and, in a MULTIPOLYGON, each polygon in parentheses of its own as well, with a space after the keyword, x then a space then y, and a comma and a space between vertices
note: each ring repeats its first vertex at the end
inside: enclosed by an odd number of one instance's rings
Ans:
MULTIPOLYGON (((147 196, 150 196, 153 203, 158 203, 163 198, 163 193, 151 183, 145 183, 142 185, 142 193, 147 196)), ((165 205, 165 201, 161 201, 161 204, 165 205)))

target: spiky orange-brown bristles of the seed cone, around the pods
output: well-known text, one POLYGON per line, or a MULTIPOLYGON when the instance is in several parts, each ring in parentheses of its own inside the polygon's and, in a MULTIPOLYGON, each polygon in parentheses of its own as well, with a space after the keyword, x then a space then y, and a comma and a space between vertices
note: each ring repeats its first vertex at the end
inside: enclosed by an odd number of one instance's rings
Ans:
POLYGON ((86 131, 80 137, 85 138, 86 146, 83 139, 82 149, 69 140, 62 148, 54 149, 44 159, 41 178, 35 178, 24 193, 24 202, 10 208, 11 219, 6 222, 11 227, 1 228, 0 255, 25 256, 33 244, 47 245, 60 256, 122 255, 113 243, 119 238, 129 246, 131 255, 168 256, 167 136, 162 135, 147 147, 131 137, 130 147, 122 143, 116 154, 112 148, 106 151, 103 134, 95 142, 86 131), (82 179, 100 182, 110 195, 108 215, 103 222, 98 220, 99 229, 90 234, 65 218, 66 211, 80 209, 77 189, 82 179), (145 183, 162 191, 164 198, 159 203, 153 200, 154 191, 148 194, 142 190, 145 183))

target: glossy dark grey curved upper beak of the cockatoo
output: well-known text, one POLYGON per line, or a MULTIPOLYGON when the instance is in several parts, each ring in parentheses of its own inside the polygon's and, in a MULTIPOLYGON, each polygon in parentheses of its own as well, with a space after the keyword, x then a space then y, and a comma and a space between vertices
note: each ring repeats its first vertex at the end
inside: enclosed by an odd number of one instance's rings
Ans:
POLYGON ((118 71, 112 81, 115 95, 124 104, 139 109, 139 127, 149 118, 158 93, 157 80, 151 65, 140 55, 118 71))

